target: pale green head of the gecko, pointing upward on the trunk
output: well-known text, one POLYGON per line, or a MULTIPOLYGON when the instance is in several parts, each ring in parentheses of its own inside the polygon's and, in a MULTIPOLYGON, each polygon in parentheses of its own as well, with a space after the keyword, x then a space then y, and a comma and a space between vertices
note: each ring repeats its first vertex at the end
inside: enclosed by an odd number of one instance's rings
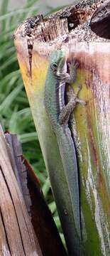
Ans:
POLYGON ((54 50, 50 56, 50 68, 53 73, 56 73, 57 70, 59 73, 62 72, 66 63, 66 54, 64 50, 54 50))

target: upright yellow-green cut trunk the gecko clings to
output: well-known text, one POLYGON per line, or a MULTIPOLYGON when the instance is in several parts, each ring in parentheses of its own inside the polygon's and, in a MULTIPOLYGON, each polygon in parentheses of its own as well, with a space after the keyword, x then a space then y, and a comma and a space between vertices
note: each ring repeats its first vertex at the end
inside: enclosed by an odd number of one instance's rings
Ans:
POLYGON ((18 62, 70 255, 110 255, 110 41, 106 36, 109 18, 106 26, 103 18, 98 20, 104 33, 99 29, 94 33, 94 11, 100 5, 99 1, 83 1, 46 18, 35 16, 24 21, 14 34, 18 62), (75 247, 77 238, 70 235, 72 206, 57 139, 44 106, 45 79, 54 49, 65 50, 68 63, 73 58, 79 63, 73 88, 77 90, 77 84, 81 84, 79 97, 87 101, 86 106, 75 107, 71 128, 80 181, 79 249, 75 247))

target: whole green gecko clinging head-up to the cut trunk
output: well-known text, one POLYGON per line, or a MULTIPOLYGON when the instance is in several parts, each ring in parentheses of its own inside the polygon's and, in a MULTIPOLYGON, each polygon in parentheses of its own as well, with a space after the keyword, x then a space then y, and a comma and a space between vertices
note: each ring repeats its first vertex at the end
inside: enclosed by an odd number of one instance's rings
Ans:
POLYGON ((68 127, 70 114, 74 110, 76 102, 82 102, 77 98, 80 89, 78 89, 77 94, 72 94, 73 97, 65 106, 65 84, 72 84, 72 82, 75 82, 77 66, 77 63, 74 62, 70 65, 69 75, 67 73, 65 52, 62 50, 55 50, 52 53, 45 81, 45 109, 57 137, 57 143, 60 149, 60 156, 72 202, 75 228, 79 238, 81 238, 77 158, 75 144, 72 139, 70 128, 68 127))

